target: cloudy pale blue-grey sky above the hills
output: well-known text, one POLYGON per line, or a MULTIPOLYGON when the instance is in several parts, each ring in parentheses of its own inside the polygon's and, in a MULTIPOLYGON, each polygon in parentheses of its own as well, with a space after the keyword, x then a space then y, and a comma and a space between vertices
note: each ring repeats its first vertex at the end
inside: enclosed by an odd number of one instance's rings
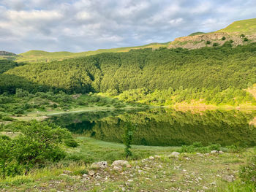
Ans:
POLYGON ((256 18, 255 0, 0 0, 0 50, 82 52, 170 42, 256 18))

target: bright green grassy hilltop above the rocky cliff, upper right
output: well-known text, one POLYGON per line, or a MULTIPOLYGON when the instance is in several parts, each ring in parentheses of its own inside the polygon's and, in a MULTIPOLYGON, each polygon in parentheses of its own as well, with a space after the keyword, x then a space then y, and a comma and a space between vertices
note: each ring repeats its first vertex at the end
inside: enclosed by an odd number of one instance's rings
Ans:
POLYGON ((238 32, 244 34, 256 33, 256 18, 248 20, 238 20, 217 32, 238 32))

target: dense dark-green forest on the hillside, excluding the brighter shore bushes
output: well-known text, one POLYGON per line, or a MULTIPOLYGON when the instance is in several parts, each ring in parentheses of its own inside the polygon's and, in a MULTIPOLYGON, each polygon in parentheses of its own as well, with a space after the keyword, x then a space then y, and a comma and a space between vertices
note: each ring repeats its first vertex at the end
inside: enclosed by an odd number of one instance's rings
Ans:
MULTIPOLYGON (((23 78, 24 88, 41 86, 53 92, 89 93, 148 88, 243 89, 256 82, 256 44, 230 47, 203 47, 131 50, 103 53, 51 63, 27 64, 5 72, 0 92, 7 91, 10 75, 23 78), (26 82, 26 81, 27 82, 26 82), (33 82, 33 85, 31 83, 33 82), (30 83, 30 84, 29 84, 30 83)), ((15 84, 14 81, 12 83, 15 84)), ((19 82, 20 83, 20 82, 19 82)), ((13 87, 13 85, 12 85, 13 87)))

